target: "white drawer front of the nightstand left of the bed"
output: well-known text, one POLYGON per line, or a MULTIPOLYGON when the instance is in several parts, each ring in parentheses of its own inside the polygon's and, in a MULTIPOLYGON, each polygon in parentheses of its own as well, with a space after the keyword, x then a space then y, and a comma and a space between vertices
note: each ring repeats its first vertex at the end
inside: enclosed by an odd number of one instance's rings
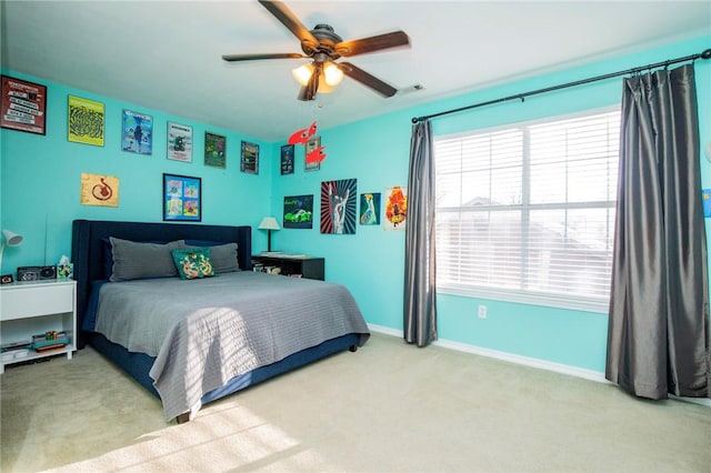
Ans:
POLYGON ((28 284, 3 290, 0 320, 26 319, 38 315, 72 312, 72 284, 28 284))

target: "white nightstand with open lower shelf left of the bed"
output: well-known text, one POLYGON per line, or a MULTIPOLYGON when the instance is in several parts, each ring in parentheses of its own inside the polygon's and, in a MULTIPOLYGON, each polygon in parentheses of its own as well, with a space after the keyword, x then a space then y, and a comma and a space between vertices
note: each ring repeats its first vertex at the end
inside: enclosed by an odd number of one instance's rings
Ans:
POLYGON ((7 364, 58 353, 71 360, 77 349, 77 281, 47 280, 0 285, 0 345, 30 342, 32 335, 66 332, 70 343, 54 350, 14 350, 0 353, 0 373, 7 364))

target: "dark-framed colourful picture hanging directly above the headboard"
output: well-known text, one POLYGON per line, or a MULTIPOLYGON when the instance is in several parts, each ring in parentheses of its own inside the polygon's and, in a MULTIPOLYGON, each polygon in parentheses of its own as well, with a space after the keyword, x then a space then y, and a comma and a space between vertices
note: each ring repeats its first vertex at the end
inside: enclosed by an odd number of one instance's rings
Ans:
POLYGON ((163 221, 202 220, 202 179, 163 173, 163 221))

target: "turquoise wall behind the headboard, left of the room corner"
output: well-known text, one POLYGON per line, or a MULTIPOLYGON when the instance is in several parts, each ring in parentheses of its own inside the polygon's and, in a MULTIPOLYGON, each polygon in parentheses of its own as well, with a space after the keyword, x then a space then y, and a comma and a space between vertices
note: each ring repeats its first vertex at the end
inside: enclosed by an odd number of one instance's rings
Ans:
MULTIPOLYGON (((19 265, 56 264, 71 252, 71 221, 74 219, 162 221, 163 172, 202 179, 202 222, 211 224, 251 224, 257 227, 269 212, 272 145, 234 131, 206 127, 181 117, 167 115, 140 104, 98 97, 62 84, 12 71, 12 77, 48 85, 47 135, 2 129, 0 151, 1 222, 24 236, 21 246, 7 248, 2 273, 19 265), (93 147, 67 139, 68 95, 96 100, 106 105, 104 145, 93 147), (152 154, 121 151, 121 115, 128 109, 153 117, 152 154), (191 163, 167 159, 168 121, 192 125, 191 163), (226 169, 203 164, 204 132, 227 137, 226 169), (260 144, 259 174, 239 170, 241 140, 260 144), (119 207, 80 204, 81 173, 119 178, 119 207)), ((257 244, 266 236, 253 235, 257 244)))

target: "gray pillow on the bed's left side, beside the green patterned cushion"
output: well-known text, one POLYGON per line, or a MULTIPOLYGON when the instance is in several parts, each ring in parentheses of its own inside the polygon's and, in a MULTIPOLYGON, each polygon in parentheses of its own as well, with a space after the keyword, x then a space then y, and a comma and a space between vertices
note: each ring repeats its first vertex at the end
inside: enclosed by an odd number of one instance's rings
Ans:
POLYGON ((113 270, 109 281, 148 278, 176 278, 178 270, 170 250, 186 248, 184 240, 170 243, 141 243, 109 236, 113 270))

